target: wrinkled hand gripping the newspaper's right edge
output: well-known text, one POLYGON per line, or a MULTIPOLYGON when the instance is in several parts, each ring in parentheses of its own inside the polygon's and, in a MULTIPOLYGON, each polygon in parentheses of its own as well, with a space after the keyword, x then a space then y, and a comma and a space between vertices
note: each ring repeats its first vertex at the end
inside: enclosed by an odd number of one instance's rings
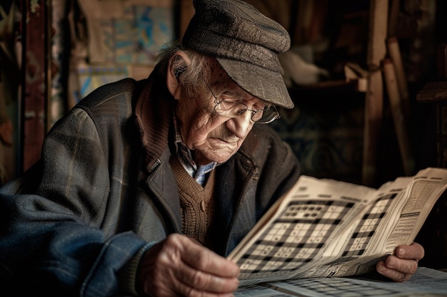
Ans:
POLYGON ((416 272, 418 261, 423 258, 423 255, 424 250, 421 244, 398 246, 394 255, 378 262, 376 269, 378 273, 393 281, 399 283, 408 281, 411 274, 416 272))

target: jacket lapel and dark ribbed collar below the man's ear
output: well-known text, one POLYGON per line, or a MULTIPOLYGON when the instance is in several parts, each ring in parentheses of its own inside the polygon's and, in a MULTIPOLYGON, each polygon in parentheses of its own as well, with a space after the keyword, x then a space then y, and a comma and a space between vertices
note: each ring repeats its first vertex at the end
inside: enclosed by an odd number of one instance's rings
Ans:
POLYGON ((173 108, 174 98, 166 88, 166 81, 154 69, 135 107, 136 125, 139 127, 146 155, 144 183, 156 197, 154 203, 161 214, 172 223, 170 231, 181 233, 179 193, 173 191, 177 184, 169 166, 169 124, 173 108), (157 85, 158 88, 151 88, 152 85, 157 85))

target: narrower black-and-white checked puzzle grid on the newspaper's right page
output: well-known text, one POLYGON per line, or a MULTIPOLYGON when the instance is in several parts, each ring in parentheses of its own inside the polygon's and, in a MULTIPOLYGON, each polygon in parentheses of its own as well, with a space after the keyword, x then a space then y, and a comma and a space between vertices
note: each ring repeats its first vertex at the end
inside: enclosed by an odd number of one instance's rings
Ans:
POLYGON ((360 256, 365 252, 366 246, 373 236, 380 219, 386 214, 386 210, 390 206, 396 194, 387 194, 379 197, 376 204, 368 209, 361 221, 358 223, 343 256, 360 256))

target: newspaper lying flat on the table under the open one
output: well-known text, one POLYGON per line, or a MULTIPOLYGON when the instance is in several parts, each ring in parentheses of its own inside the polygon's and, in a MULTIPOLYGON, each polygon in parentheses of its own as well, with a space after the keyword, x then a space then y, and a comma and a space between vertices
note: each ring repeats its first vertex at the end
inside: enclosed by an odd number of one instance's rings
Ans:
POLYGON ((405 283, 368 278, 300 278, 239 288, 235 297, 447 296, 447 273, 419 267, 405 283))

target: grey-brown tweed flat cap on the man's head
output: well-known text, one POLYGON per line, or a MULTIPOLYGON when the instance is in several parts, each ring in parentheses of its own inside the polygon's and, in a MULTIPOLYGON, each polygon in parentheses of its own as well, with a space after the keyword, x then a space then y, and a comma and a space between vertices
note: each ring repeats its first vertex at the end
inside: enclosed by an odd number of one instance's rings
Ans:
POLYGON ((183 45, 216 58, 251 95, 293 108, 278 61, 290 48, 286 29, 241 0, 194 0, 194 7, 183 45))

